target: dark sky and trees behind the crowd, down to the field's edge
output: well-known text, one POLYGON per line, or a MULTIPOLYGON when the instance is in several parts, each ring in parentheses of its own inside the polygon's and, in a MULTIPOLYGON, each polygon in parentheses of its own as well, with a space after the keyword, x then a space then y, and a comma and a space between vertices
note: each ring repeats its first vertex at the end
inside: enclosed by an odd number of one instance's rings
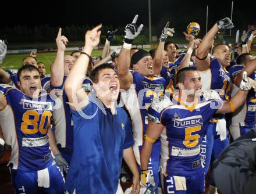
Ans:
MULTIPOLYGON (((256 24, 253 1, 234 1, 232 35, 236 30, 247 30, 248 24, 256 24)), ((171 1, 151 0, 152 35, 159 35, 166 21, 176 30, 175 36, 182 37, 191 21, 201 26, 200 36, 205 34, 206 7, 208 30, 223 17, 230 17, 232 1, 171 1)), ((63 33, 76 41, 84 31, 102 23, 102 34, 119 28, 117 34, 123 35, 123 28, 138 14, 137 24, 143 23, 143 35, 148 37, 148 0, 111 1, 5 1, 1 2, 0 35, 9 41, 49 41, 55 37, 58 27, 63 33), (67 29, 66 29, 67 27, 67 29), (27 35, 26 35, 27 34, 27 35), (20 38, 17 38, 20 37, 20 38)), ((1 37, 0 37, 1 38, 1 37)))

